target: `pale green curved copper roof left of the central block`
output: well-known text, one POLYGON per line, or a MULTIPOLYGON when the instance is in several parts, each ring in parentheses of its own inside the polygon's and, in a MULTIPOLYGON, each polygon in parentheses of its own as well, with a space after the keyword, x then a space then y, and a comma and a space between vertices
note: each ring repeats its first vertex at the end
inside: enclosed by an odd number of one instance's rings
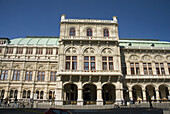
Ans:
POLYGON ((10 44, 25 45, 58 45, 58 37, 53 38, 16 38, 10 40, 10 44))

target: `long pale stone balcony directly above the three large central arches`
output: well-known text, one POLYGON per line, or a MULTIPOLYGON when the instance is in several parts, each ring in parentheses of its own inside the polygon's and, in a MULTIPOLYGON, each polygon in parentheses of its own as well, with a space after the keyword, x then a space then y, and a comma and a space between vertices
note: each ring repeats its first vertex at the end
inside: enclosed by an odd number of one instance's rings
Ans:
POLYGON ((122 73, 119 70, 61 70, 59 75, 122 76, 122 73))

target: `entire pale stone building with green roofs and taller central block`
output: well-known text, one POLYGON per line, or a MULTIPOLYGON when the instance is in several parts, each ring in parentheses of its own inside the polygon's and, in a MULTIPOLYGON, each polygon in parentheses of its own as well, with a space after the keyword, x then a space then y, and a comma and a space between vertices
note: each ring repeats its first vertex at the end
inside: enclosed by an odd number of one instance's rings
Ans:
POLYGON ((0 39, 0 96, 56 105, 170 95, 170 42, 119 39, 112 20, 66 19, 60 37, 0 39))

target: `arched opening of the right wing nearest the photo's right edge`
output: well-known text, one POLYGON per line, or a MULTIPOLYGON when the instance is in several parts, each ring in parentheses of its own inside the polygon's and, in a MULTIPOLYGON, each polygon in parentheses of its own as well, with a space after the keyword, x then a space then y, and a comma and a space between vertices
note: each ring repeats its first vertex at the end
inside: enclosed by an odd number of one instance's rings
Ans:
POLYGON ((160 99, 168 99, 169 90, 167 86, 165 85, 159 86, 159 96, 160 96, 160 99))

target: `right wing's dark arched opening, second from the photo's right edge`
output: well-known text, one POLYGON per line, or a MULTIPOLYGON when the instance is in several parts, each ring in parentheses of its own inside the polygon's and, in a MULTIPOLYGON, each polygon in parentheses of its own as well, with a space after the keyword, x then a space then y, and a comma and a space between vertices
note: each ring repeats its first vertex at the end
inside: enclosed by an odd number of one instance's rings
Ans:
POLYGON ((146 86, 146 101, 149 101, 149 98, 151 98, 152 100, 156 99, 156 92, 155 92, 155 87, 153 87, 152 85, 148 85, 146 86))

